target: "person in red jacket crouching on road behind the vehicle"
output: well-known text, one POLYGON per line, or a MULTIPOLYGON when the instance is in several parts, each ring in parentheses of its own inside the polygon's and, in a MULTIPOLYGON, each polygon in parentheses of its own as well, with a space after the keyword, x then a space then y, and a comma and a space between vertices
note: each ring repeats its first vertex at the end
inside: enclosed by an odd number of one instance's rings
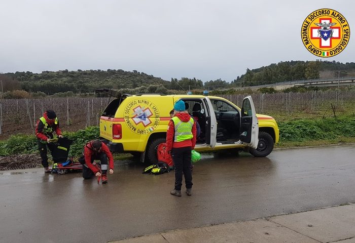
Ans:
POLYGON ((85 144, 84 159, 83 178, 91 179, 95 175, 101 177, 102 184, 108 183, 107 170, 110 168, 110 174, 114 173, 114 157, 109 147, 98 139, 90 141, 85 144), (94 163, 95 159, 101 161, 101 169, 94 163))

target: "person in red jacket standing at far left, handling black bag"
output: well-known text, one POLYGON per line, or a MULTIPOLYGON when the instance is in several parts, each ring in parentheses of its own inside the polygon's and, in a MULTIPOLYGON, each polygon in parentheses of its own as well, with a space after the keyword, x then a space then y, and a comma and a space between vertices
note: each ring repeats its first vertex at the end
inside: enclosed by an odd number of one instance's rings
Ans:
POLYGON ((51 172, 48 168, 47 147, 52 151, 53 144, 50 144, 49 140, 53 138, 53 132, 55 132, 59 138, 63 137, 59 128, 57 115, 53 110, 47 110, 37 121, 35 127, 35 136, 38 139, 38 148, 40 150, 42 166, 45 168, 45 173, 51 172))

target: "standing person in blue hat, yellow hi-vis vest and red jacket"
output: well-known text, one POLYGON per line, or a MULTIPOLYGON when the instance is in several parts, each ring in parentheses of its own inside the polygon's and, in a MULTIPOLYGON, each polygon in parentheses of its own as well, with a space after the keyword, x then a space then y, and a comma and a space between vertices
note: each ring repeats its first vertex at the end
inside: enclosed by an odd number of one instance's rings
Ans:
POLYGON ((196 144, 196 123, 185 111, 185 103, 178 100, 174 104, 174 116, 170 119, 166 133, 166 150, 171 153, 175 165, 175 187, 170 194, 181 196, 183 172, 186 194, 191 196, 191 150, 196 144))

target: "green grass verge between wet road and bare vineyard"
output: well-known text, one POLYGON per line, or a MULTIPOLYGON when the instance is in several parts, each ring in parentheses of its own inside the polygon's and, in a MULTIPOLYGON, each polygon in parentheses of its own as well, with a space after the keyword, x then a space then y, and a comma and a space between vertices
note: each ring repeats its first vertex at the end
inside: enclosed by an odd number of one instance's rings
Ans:
MULTIPOLYGON (((280 140, 276 148, 301 146, 326 146, 331 144, 355 143, 355 115, 348 114, 337 118, 302 118, 281 121, 280 140)), ((85 143, 99 137, 98 127, 88 127, 76 132, 64 132, 63 135, 74 141, 69 155, 80 156, 85 143)), ((0 141, 0 155, 38 153, 34 135, 13 135, 0 141)), ((128 158, 130 154, 115 154, 117 158, 128 158)))

